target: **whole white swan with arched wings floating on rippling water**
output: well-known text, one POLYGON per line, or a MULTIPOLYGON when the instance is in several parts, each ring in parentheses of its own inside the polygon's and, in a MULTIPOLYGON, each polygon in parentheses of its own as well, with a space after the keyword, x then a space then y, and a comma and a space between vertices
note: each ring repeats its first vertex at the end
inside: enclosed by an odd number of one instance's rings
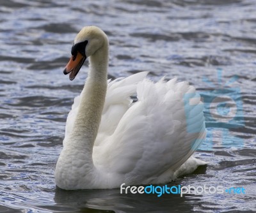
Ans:
POLYGON ((63 73, 73 80, 86 57, 90 66, 67 117, 56 185, 74 190, 164 184, 205 165, 191 156, 206 135, 195 87, 176 78, 154 83, 147 72, 108 80, 108 52, 99 27, 84 27, 74 40, 63 73))

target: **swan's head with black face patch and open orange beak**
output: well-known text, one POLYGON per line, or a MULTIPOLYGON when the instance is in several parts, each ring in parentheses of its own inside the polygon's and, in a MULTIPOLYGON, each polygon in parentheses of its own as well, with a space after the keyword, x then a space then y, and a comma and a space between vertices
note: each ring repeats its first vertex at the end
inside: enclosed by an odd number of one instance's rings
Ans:
POLYGON ((70 73, 69 79, 74 80, 86 57, 95 54, 104 45, 108 45, 108 37, 99 27, 88 26, 81 29, 74 40, 72 56, 63 73, 70 73))

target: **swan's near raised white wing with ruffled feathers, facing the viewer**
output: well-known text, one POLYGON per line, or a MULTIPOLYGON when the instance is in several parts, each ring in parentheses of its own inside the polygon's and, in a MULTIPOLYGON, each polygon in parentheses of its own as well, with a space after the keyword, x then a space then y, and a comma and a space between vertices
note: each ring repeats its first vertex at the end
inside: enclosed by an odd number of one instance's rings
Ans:
POLYGON ((124 175, 127 184, 170 180, 170 173, 205 138, 204 105, 193 86, 176 79, 156 84, 143 80, 137 93, 138 101, 101 143, 93 160, 101 169, 124 175))

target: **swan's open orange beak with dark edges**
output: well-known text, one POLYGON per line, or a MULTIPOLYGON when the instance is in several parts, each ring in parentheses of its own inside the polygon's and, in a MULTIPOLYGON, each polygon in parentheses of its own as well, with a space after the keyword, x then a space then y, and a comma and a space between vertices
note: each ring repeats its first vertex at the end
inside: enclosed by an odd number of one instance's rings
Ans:
POLYGON ((74 80, 74 78, 76 78, 77 73, 83 66, 85 59, 86 57, 84 57, 80 52, 77 52, 76 56, 72 55, 63 73, 65 75, 70 73, 69 79, 74 80))

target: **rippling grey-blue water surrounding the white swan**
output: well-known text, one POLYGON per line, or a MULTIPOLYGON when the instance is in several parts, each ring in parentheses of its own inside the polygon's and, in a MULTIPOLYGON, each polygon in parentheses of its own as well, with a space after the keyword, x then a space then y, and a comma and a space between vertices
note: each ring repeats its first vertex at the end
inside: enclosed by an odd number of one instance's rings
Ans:
POLYGON ((1 1, 0 212, 256 210, 255 8, 252 0, 1 1), (154 80, 188 80, 204 98, 209 134, 196 156, 209 165, 170 184, 244 187, 246 195, 56 189, 65 119, 86 78, 81 71, 70 82, 62 70, 76 33, 92 24, 109 36, 109 77, 148 70, 154 80), (225 105, 212 107, 223 91, 225 105), (226 105, 239 114, 219 126, 212 118, 232 116, 226 105))

